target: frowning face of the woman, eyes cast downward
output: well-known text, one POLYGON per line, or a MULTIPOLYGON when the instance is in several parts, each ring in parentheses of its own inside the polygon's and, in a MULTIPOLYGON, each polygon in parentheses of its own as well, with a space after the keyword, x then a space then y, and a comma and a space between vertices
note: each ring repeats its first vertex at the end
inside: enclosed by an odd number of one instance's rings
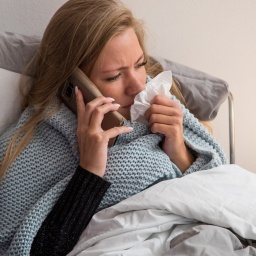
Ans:
POLYGON ((90 75, 104 96, 121 105, 118 112, 128 120, 135 95, 145 87, 145 64, 138 38, 130 28, 107 43, 90 75))

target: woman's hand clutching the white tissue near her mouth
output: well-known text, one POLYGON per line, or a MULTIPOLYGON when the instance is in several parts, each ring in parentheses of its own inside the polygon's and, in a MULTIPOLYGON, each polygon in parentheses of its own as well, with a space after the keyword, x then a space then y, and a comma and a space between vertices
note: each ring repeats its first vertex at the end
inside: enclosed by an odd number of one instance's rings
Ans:
POLYGON ((188 151, 183 138, 183 114, 180 105, 163 95, 156 95, 145 118, 153 133, 162 133, 163 151, 182 172, 193 163, 194 157, 188 151))

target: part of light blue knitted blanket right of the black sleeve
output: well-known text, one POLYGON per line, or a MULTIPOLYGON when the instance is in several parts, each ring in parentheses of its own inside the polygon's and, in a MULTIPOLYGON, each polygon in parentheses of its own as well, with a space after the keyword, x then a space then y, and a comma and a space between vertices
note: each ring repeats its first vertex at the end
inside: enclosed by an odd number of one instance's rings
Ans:
MULTIPOLYGON (((174 96, 172 99, 179 102, 174 96)), ((185 143, 198 154, 184 175, 226 163, 218 142, 193 114, 181 106, 185 143)), ((104 178, 111 182, 111 186, 98 210, 116 204, 156 182, 183 175, 161 150, 159 143, 162 135, 152 134, 149 127, 142 123, 126 121, 125 125, 133 127, 133 131, 119 136, 116 146, 109 149, 104 178)))

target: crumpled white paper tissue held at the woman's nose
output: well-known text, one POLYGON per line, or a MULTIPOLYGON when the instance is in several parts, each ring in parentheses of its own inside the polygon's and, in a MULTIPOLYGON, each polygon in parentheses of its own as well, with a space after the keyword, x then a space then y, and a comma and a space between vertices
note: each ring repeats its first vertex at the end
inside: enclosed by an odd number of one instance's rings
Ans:
POLYGON ((150 106, 151 100, 157 95, 171 96, 172 71, 164 71, 150 80, 143 91, 134 98, 134 104, 131 106, 131 121, 147 124, 144 113, 150 106))

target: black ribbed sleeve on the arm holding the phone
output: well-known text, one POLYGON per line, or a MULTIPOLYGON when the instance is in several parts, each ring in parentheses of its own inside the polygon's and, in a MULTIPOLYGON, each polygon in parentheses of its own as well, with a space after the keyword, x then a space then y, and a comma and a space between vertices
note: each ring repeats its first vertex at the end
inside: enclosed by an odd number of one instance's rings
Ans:
POLYGON ((78 166, 34 238, 30 255, 66 255, 78 241, 110 183, 78 166))

